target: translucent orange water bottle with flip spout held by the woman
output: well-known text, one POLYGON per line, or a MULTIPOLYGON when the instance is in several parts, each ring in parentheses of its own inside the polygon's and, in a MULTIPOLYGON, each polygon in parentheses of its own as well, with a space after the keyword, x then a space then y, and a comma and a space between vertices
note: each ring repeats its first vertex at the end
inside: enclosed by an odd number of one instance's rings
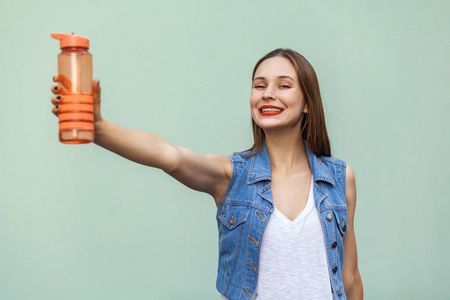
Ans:
POLYGON ((87 144, 94 141, 94 97, 92 95, 92 55, 89 40, 72 34, 53 33, 60 40, 58 75, 60 86, 59 141, 87 144))

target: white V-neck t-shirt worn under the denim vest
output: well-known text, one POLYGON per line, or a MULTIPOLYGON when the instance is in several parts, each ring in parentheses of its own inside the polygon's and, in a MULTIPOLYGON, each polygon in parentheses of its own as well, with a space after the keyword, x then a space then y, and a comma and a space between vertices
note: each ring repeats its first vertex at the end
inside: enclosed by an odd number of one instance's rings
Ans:
MULTIPOLYGON (((274 209, 261 243, 258 300, 332 299, 319 214, 311 186, 300 215, 291 221, 274 209)), ((221 295, 221 300, 228 300, 221 295)), ((233 299, 230 299, 233 300, 233 299)))

